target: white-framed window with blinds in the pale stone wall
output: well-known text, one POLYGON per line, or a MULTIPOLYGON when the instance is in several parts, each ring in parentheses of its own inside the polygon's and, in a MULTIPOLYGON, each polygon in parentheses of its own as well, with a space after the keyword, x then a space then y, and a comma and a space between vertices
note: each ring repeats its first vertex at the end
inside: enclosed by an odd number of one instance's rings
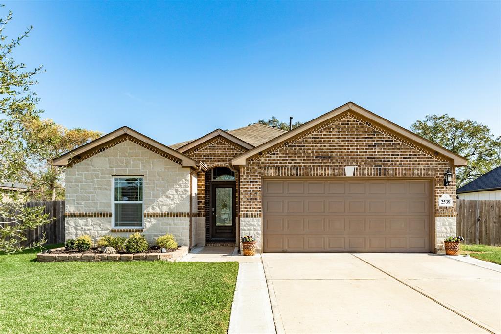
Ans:
POLYGON ((115 227, 143 227, 143 178, 113 177, 115 227))

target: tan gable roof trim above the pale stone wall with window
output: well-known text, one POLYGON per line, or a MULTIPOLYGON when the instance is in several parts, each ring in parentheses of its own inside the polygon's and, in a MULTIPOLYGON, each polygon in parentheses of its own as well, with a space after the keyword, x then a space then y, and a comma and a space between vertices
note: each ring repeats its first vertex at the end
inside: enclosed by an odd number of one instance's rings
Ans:
POLYGON ((178 160, 181 161, 182 166, 188 166, 188 167, 192 167, 194 169, 198 169, 199 167, 202 169, 205 169, 205 164, 200 163, 200 162, 196 161, 195 159, 192 159, 189 156, 184 155, 184 154, 182 154, 182 153, 180 153, 180 152, 178 152, 178 151, 176 151, 168 146, 165 146, 164 144, 161 144, 158 141, 153 140, 150 137, 147 137, 144 134, 139 133, 139 132, 127 127, 127 126, 123 126, 119 129, 116 129, 115 131, 112 131, 108 134, 105 134, 104 136, 101 136, 101 137, 97 138, 96 140, 93 140, 85 145, 82 145, 78 148, 75 148, 74 150, 69 151, 69 152, 53 159, 52 164, 54 164, 56 166, 67 165, 68 163, 71 162, 71 159, 73 157, 78 158, 78 156, 82 156, 82 155, 85 156, 86 153, 90 153, 92 151, 104 150, 104 149, 106 149, 105 146, 107 144, 109 144, 110 142, 112 142, 114 140, 116 141, 117 139, 119 139, 120 137, 123 137, 124 135, 133 137, 133 138, 139 140, 140 142, 143 142, 143 143, 145 143, 145 144, 147 144, 155 149, 158 149, 161 152, 164 152, 170 156, 177 158, 178 160))

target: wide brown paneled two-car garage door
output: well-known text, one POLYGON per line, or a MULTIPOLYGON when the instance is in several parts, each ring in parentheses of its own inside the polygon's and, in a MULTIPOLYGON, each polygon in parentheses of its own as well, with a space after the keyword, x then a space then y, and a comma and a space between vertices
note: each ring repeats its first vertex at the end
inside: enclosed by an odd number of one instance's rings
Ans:
POLYGON ((429 252, 428 181, 264 180, 265 252, 429 252))

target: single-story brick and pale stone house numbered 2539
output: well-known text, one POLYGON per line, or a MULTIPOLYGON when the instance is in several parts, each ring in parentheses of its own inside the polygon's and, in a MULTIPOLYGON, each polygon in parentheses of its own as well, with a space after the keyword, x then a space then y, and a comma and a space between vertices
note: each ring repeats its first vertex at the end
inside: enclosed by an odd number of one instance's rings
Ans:
POLYGON ((434 252, 455 235, 466 159, 349 102, 287 132, 255 124, 171 146, 124 126, 53 163, 68 167, 66 238, 434 252))

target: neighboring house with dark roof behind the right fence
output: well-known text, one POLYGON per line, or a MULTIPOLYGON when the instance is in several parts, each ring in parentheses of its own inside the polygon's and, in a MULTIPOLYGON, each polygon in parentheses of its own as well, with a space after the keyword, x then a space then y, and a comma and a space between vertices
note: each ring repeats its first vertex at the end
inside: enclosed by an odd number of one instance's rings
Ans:
POLYGON ((501 166, 456 190, 460 200, 501 200, 501 166))

